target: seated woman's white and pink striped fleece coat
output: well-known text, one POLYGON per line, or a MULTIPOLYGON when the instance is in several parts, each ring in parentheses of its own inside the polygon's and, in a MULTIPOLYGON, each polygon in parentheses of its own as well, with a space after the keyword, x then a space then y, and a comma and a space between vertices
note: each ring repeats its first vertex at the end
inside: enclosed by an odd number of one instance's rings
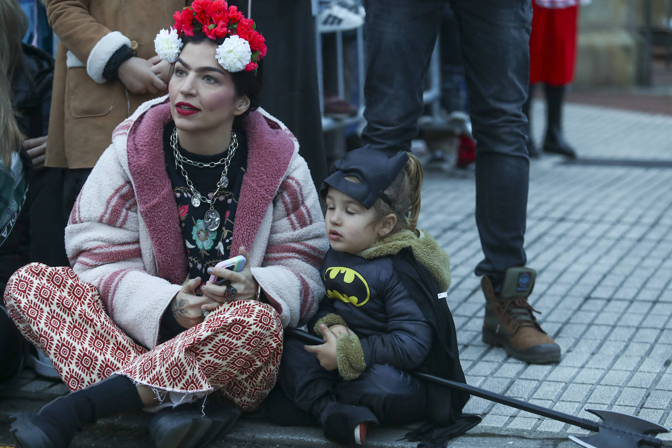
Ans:
MULTIPOLYGON (((65 229, 73 270, 97 287, 130 337, 157 345, 161 316, 187 275, 179 212, 164 166, 167 97, 147 101, 112 134, 65 229)), ((303 324, 322 296, 318 267, 328 248, 317 191, 298 142, 259 109, 243 124, 248 142, 231 247, 245 246, 252 275, 284 326, 303 324)))

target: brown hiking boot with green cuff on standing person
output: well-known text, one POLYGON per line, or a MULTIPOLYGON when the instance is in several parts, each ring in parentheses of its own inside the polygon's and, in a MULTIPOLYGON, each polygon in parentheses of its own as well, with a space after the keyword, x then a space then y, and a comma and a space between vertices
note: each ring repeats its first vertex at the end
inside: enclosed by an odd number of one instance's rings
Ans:
POLYGON ((490 279, 483 276, 480 282, 486 300, 483 342, 504 347, 510 356, 526 363, 558 363, 560 346, 542 330, 532 314, 538 311, 528 304, 535 277, 534 269, 509 268, 502 292, 495 296, 490 279))

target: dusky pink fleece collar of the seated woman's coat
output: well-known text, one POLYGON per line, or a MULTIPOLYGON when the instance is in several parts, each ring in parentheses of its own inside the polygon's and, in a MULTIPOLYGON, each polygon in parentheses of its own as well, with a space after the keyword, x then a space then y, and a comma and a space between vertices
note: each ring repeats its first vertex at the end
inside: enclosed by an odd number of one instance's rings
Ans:
MULTIPOLYGON (((187 256, 163 156, 163 129, 171 120, 169 101, 151 107, 132 124, 126 146, 138 212, 149 232, 159 277, 181 284, 187 275, 187 256)), ((248 145, 247 172, 238 199, 232 256, 241 246, 248 251, 252 247, 295 150, 293 136, 259 111, 249 114, 243 126, 248 145)))

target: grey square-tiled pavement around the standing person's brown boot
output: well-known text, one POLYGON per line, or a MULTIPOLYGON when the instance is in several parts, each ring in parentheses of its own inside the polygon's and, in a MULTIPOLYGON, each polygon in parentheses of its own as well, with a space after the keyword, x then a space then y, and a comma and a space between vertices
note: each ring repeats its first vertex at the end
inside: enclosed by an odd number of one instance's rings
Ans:
MULTIPOLYGON (((540 102, 532 114, 539 140, 540 102)), ((566 106, 565 116, 567 137, 580 156, 672 161, 672 117, 574 104, 566 106)), ((482 253, 473 175, 473 169, 428 171, 420 217, 420 226, 451 257, 448 301, 468 382, 591 420, 596 418, 586 407, 672 428, 672 169, 564 165, 558 156, 532 161, 526 250, 528 265, 539 275, 530 302, 562 348, 558 365, 527 365, 480 340, 484 302, 472 271, 482 253)), ((25 372, 11 390, 0 390, 0 421, 7 422, 12 409, 36 408, 40 402, 33 400, 64 392, 65 386, 25 372)), ((484 418, 455 441, 458 447, 564 448, 578 446, 566 441, 566 433, 582 433, 480 398, 472 398, 466 410, 484 418)), ((118 421, 127 422, 126 429, 138 427, 134 420, 118 421)), ((149 446, 137 433, 146 436, 146 430, 134 431, 138 441, 127 445, 149 446)), ((405 430, 395 431, 371 431, 370 445, 415 446, 398 441, 405 430)), ((0 445, 3 437, 0 431, 0 445)), ((660 437, 672 441, 669 433, 660 437)), ((79 440, 77 446, 87 446, 89 439, 79 440)), ((245 441, 337 446, 326 443, 319 429, 278 429, 249 420, 217 445, 249 446, 245 441)))

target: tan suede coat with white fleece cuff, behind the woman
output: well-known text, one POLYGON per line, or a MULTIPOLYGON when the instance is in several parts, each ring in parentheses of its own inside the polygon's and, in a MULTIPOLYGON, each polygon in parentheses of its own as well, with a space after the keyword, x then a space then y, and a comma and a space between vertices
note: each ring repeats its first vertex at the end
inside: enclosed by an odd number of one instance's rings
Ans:
POLYGON ((60 40, 56 53, 46 165, 91 168, 110 146, 112 130, 144 101, 120 81, 103 78, 120 46, 140 58, 155 56, 154 38, 173 25, 188 0, 46 0, 49 24, 60 40))

